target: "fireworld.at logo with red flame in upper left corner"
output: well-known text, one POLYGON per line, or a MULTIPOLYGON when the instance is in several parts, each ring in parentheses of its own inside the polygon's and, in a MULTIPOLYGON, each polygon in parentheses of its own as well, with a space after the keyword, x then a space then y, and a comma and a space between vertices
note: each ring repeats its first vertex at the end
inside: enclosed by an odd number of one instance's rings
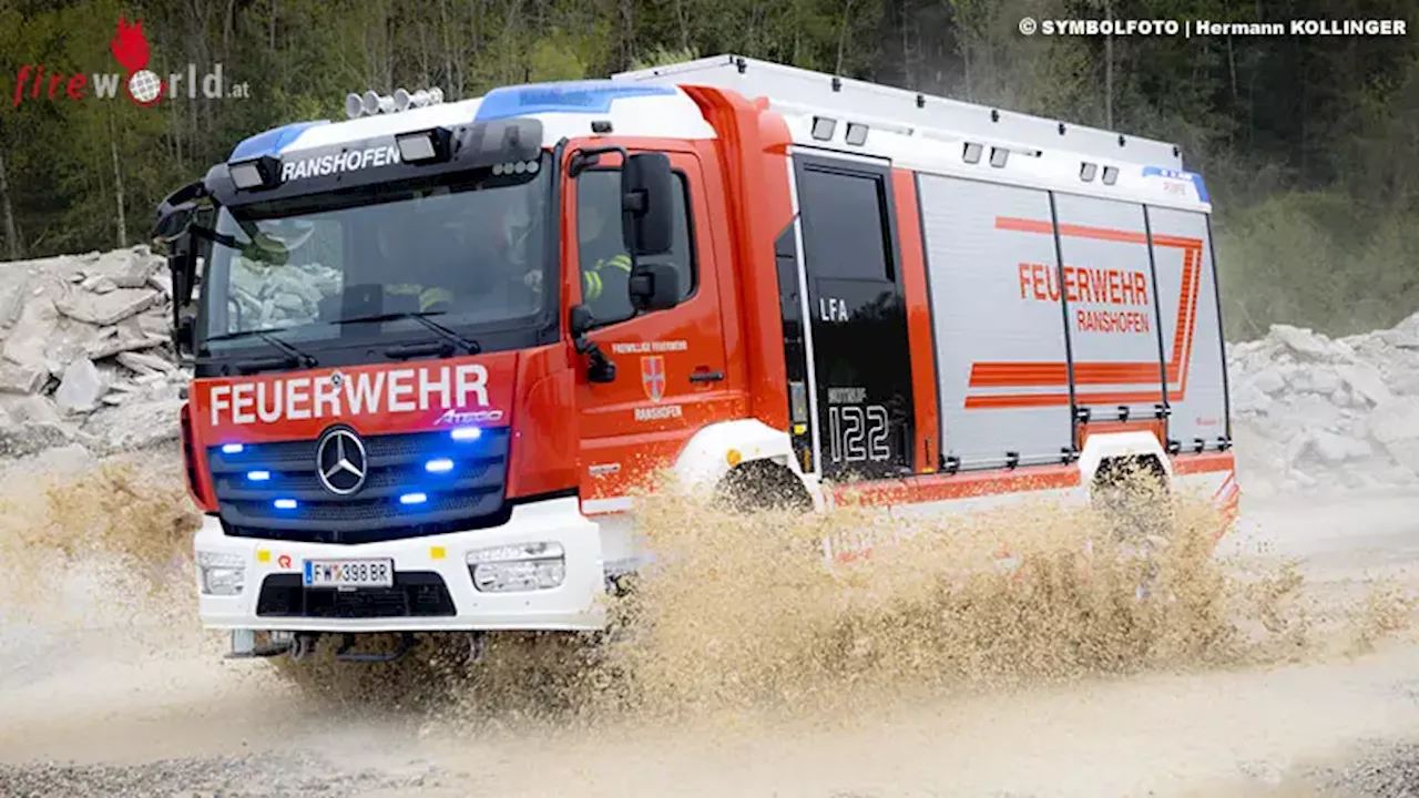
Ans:
POLYGON ((165 97, 175 99, 186 85, 187 98, 197 98, 197 85, 201 84, 201 95, 207 99, 245 99, 251 97, 247 84, 224 85, 221 80, 221 64, 213 64, 210 72, 197 78, 197 65, 187 64, 186 72, 170 72, 167 81, 158 77, 158 72, 148 68, 152 53, 148 48, 148 37, 143 35, 143 21, 128 23, 126 17, 119 17, 118 33, 108 43, 108 50, 118 61, 125 74, 94 72, 92 77, 84 72, 62 72, 47 70, 44 64, 24 64, 16 74, 14 99, 11 105, 18 108, 28 99, 112 99, 118 97, 118 87, 122 82, 123 95, 135 105, 150 108, 158 105, 165 97), (89 88, 92 87, 92 94, 89 88))

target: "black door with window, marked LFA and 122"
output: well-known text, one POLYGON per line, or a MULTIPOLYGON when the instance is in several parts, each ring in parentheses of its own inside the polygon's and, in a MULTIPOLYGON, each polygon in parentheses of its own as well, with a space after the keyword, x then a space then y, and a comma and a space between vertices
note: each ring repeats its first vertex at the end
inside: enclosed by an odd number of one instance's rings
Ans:
POLYGON ((911 473, 912 383, 890 172, 795 156, 824 479, 911 473))

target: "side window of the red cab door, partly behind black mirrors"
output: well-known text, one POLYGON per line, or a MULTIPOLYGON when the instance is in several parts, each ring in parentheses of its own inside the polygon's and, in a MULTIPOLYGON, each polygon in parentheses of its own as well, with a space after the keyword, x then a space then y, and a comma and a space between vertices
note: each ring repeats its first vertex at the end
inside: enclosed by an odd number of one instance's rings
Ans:
MULTIPOLYGON (((695 291, 695 254, 690 233, 690 193, 675 172, 674 247, 657 260, 680 270, 680 298, 695 291)), ((622 234, 620 170, 590 169, 576 179, 576 236, 580 251, 582 301, 597 327, 636 317, 630 304, 631 260, 622 234)))

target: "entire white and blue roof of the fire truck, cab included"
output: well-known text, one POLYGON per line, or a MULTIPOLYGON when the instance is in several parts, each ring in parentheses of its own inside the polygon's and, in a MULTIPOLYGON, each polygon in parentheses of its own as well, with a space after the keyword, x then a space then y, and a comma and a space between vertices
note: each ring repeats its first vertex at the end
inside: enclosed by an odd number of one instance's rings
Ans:
POLYGON ((681 87, 763 98, 799 148, 829 149, 932 173, 971 176, 1210 210, 1200 175, 1169 142, 973 105, 826 72, 725 54, 627 71, 610 80, 501 87, 487 95, 339 122, 294 122, 238 143, 230 162, 355 143, 433 126, 529 116, 545 142, 592 133, 712 139, 714 128, 681 87))

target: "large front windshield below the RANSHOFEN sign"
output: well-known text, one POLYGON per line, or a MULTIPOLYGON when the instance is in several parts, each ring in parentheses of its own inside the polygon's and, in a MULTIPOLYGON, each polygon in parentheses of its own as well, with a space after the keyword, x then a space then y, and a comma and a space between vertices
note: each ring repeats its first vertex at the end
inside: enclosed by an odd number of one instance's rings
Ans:
POLYGON ((446 327, 526 324, 545 307, 548 177, 538 162, 502 172, 223 207, 203 281, 204 338, 213 349, 251 346, 250 332, 281 331, 308 348, 352 334, 368 342, 382 327, 427 332, 399 314, 446 327), (383 321, 341 324, 373 317, 383 321))

